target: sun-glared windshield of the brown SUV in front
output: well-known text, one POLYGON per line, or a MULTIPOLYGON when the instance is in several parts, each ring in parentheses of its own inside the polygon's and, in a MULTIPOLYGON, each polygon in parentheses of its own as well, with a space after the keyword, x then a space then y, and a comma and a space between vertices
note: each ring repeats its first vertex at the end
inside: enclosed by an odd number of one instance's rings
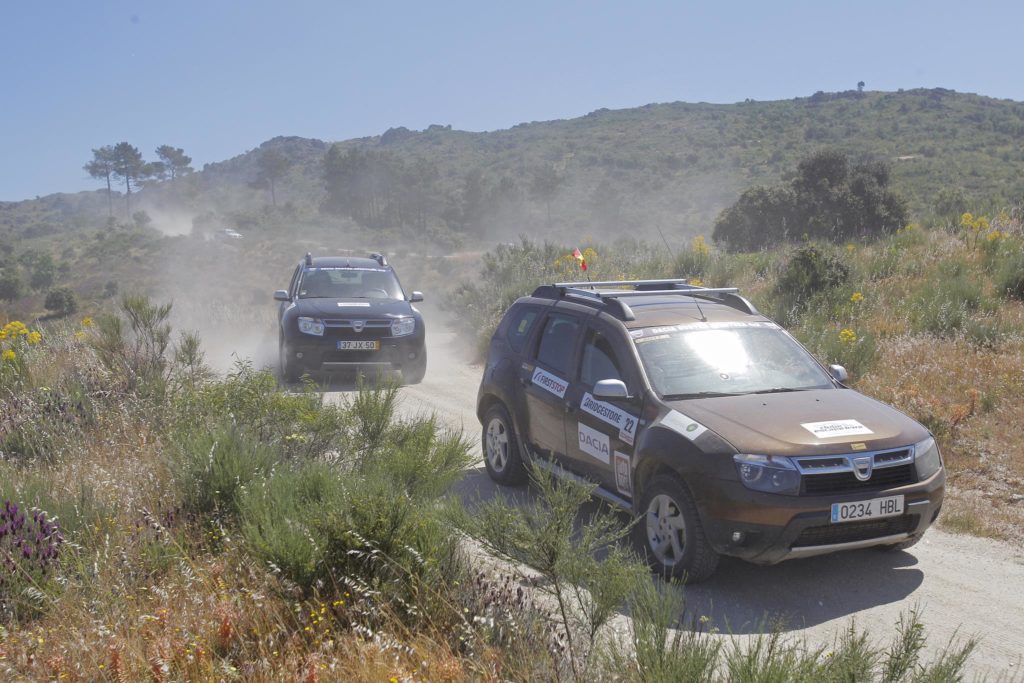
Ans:
POLYGON ((663 398, 831 386, 814 358, 774 323, 702 323, 632 334, 663 398))

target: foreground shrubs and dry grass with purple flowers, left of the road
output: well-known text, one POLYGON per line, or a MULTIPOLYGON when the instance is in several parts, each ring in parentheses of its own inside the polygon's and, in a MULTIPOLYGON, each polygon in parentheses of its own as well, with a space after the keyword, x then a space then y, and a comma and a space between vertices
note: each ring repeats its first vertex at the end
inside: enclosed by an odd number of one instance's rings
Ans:
POLYGON ((469 444, 394 387, 214 377, 170 315, 2 329, 0 678, 953 680, 974 647, 924 659, 913 613, 888 646, 672 630, 680 589, 586 488, 464 509, 469 444))

